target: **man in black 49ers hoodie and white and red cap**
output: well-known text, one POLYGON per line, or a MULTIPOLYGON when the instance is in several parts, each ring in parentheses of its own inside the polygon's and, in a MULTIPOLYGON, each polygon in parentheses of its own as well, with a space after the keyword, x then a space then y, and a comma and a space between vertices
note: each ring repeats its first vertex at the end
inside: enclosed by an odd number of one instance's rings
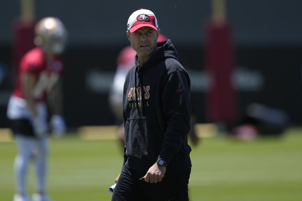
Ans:
POLYGON ((112 201, 188 200, 190 79, 171 41, 157 42, 159 32, 149 10, 128 19, 137 55, 124 84, 126 146, 112 201))

